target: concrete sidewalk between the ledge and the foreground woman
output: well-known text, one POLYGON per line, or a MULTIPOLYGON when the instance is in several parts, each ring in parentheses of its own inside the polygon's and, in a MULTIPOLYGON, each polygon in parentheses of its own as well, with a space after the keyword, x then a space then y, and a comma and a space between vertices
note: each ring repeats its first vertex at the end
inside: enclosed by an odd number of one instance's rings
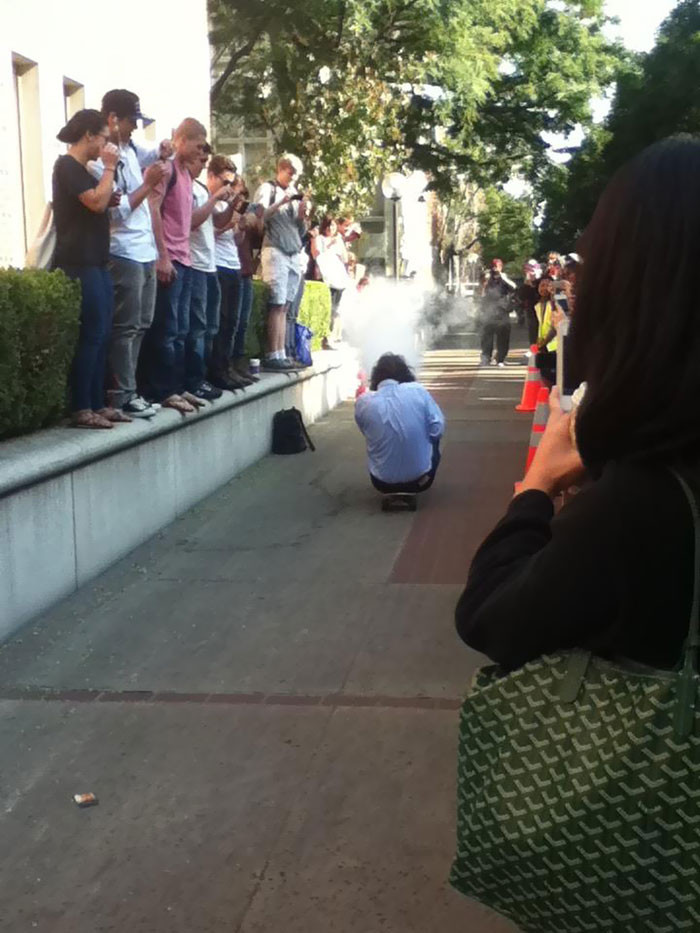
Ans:
POLYGON ((345 404, 0 649, 3 933, 512 933, 446 883, 454 604, 530 428, 524 368, 477 359, 428 354, 417 513, 345 404))

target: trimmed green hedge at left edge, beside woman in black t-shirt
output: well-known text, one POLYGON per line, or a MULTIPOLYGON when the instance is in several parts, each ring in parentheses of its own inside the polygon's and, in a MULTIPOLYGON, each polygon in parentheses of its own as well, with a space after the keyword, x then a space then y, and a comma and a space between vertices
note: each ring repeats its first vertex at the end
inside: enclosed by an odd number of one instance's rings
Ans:
POLYGON ((66 412, 80 327, 80 284, 63 272, 0 269, 0 439, 66 412))

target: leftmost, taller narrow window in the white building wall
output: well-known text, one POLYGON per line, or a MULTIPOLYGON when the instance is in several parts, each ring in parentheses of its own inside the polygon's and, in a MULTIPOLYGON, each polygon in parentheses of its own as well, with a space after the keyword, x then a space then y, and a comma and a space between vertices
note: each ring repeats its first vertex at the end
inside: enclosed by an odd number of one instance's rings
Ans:
POLYGON ((25 249, 33 239, 44 214, 44 174, 41 155, 39 110, 39 67, 21 55, 12 55, 12 74, 17 105, 22 211, 25 249))

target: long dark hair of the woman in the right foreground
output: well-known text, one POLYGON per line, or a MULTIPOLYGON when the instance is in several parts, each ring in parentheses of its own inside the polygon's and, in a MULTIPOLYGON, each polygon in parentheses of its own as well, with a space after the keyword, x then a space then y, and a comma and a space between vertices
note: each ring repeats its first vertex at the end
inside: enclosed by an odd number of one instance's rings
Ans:
POLYGON ((623 166, 579 252, 571 328, 588 382, 584 461, 670 462, 700 452, 700 141, 673 137, 623 166))

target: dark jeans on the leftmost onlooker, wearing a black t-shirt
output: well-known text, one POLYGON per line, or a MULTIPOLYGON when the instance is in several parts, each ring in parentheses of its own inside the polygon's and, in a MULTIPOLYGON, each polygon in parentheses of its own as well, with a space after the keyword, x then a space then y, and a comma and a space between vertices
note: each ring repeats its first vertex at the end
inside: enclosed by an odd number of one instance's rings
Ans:
POLYGON ((107 347, 112 332, 114 287, 106 266, 62 266, 80 282, 80 333, 71 370, 71 409, 104 408, 107 347))

